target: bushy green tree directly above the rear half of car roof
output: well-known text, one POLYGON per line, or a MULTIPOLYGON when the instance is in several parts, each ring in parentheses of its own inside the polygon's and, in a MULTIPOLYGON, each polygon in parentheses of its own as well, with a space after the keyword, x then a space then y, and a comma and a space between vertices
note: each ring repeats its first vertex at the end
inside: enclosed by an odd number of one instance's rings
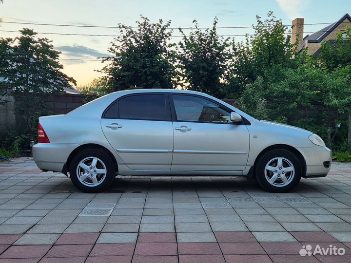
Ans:
POLYGON ((114 91, 130 88, 174 88, 176 85, 174 44, 170 44, 171 21, 151 23, 146 17, 137 21, 137 29, 119 24, 122 36, 111 42, 103 67, 108 85, 114 91))

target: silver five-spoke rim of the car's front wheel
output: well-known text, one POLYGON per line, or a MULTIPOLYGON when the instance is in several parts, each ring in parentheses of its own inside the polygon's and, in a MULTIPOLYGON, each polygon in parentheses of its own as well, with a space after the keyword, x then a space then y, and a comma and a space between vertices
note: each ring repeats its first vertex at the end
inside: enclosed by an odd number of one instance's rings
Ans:
POLYGON ((266 180, 275 187, 289 185, 294 176, 295 169, 292 162, 284 157, 271 159, 265 167, 266 180))

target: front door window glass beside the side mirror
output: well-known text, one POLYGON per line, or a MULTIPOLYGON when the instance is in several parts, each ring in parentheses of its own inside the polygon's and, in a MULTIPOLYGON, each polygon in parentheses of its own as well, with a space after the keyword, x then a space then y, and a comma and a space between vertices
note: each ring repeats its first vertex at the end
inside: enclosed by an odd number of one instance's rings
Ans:
POLYGON ((230 112, 210 100, 187 95, 172 95, 178 121, 232 123, 230 112))

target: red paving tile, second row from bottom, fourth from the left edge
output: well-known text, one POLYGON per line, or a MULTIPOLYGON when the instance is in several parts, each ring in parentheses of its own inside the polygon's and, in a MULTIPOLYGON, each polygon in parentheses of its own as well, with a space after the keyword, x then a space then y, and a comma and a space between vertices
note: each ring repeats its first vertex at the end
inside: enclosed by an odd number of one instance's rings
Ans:
POLYGON ((177 255, 176 243, 137 243, 135 255, 177 255))

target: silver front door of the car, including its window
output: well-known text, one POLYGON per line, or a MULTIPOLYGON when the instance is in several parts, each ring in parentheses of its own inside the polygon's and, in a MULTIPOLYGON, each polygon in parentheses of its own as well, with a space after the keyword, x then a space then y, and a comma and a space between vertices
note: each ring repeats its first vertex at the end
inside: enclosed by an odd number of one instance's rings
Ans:
POLYGON ((230 120, 231 110, 198 95, 172 94, 172 170, 244 170, 249 131, 230 120))

